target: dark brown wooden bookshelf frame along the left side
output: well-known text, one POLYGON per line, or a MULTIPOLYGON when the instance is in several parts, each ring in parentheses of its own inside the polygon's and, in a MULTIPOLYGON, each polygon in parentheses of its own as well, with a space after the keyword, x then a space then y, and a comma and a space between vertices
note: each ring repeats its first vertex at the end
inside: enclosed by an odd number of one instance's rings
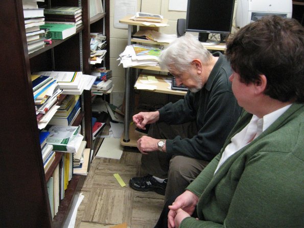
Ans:
MULTIPOLYGON (((109 0, 105 0, 105 3, 109 5, 109 0)), ((43 4, 51 4, 51 1, 45 0, 43 4)), ((52 6, 55 5, 81 5, 83 26, 78 28, 75 35, 64 40, 54 40, 51 45, 29 55, 22 1, 3 0, 0 3, 0 180, 3 183, 0 188, 0 227, 61 227, 75 191, 84 180, 84 176, 73 175, 53 220, 46 182, 63 154, 57 153, 55 161, 44 173, 31 72, 57 70, 89 74, 90 31, 89 0, 52 0, 52 6)), ((95 23, 106 18, 106 15, 99 15, 94 19, 95 23)), ((108 30, 108 24, 105 24, 108 30)), ((90 91, 85 90, 81 97, 82 112, 75 123, 82 124, 82 134, 88 148, 92 146, 90 99, 90 91)))

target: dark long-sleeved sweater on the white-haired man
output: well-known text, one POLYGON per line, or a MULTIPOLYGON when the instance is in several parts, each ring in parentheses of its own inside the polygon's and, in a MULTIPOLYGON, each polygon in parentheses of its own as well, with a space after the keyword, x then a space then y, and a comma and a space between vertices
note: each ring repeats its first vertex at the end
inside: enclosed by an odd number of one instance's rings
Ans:
POLYGON ((221 53, 213 55, 219 59, 203 88, 196 93, 188 91, 183 99, 158 110, 158 121, 169 124, 197 123, 198 134, 193 138, 177 136, 166 140, 166 150, 171 156, 183 155, 211 161, 219 153, 241 114, 229 82, 232 73, 230 64, 221 53))

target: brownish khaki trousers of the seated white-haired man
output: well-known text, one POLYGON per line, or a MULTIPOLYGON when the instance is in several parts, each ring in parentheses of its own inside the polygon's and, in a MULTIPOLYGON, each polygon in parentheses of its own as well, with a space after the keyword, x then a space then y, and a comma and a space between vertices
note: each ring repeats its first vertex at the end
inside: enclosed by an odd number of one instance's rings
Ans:
MULTIPOLYGON (((156 122, 150 125, 148 136, 155 139, 192 138, 197 134, 194 122, 178 125, 169 125, 156 122)), ((169 156, 162 151, 151 151, 142 156, 142 170, 146 174, 157 176, 161 179, 168 178, 165 202, 176 194, 181 194, 184 189, 206 167, 208 162, 186 156, 169 156)))

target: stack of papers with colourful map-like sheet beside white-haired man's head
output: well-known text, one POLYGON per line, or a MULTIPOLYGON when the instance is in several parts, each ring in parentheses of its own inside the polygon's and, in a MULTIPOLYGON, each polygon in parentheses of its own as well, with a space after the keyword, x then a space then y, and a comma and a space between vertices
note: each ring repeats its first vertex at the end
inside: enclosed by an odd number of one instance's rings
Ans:
MULTIPOLYGON (((158 47, 143 46, 132 44, 126 46, 124 52, 120 54, 117 60, 123 67, 132 66, 158 66, 161 49, 158 47)), ((119 64, 119 65, 120 65, 119 64)))

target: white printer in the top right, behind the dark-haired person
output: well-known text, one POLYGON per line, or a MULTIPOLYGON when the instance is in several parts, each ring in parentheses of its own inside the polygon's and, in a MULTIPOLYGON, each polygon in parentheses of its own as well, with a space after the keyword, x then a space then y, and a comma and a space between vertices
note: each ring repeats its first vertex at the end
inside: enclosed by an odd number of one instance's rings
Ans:
POLYGON ((292 0, 238 0, 236 27, 242 28, 267 15, 291 18, 292 0))

